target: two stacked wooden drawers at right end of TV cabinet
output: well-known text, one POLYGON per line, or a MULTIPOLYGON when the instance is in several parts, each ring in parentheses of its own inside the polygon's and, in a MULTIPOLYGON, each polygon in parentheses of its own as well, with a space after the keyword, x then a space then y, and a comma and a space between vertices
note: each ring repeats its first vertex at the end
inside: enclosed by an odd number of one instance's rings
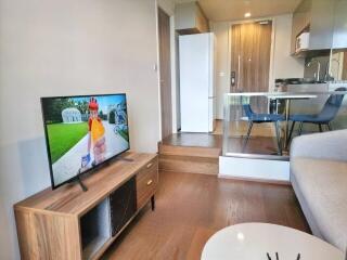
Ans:
POLYGON ((154 195, 158 184, 158 159, 146 164, 137 174, 137 205, 141 209, 154 195))

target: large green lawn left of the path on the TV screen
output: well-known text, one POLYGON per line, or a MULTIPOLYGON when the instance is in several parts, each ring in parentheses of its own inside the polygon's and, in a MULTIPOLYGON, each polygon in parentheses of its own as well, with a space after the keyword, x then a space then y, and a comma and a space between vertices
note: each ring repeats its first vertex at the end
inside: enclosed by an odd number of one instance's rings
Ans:
POLYGON ((52 123, 47 126, 47 131, 54 164, 88 133, 88 123, 52 123))

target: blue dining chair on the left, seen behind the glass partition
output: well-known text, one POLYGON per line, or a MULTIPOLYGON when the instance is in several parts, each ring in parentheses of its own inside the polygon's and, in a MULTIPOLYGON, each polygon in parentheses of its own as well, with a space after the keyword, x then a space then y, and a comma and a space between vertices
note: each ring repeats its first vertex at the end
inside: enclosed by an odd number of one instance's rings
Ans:
POLYGON ((245 114, 248 118, 248 130, 247 130, 247 136, 243 145, 243 152, 249 141, 250 132, 253 129, 254 123, 264 123, 264 122, 273 122, 275 128, 275 135, 277 135, 277 143, 278 143, 278 153, 282 155, 282 147, 281 147, 281 136, 280 136, 280 125, 279 121, 284 120, 283 115, 279 114, 257 114, 254 113, 249 104, 243 105, 243 109, 245 110, 245 114))

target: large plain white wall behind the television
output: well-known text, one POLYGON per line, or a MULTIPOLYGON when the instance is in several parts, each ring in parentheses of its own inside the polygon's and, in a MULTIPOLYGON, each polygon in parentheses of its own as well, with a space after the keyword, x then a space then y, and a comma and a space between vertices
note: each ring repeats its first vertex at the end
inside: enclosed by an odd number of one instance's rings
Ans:
POLYGON ((14 203, 50 185, 40 96, 128 94, 131 147, 159 140, 156 1, 0 0, 0 259, 14 203))

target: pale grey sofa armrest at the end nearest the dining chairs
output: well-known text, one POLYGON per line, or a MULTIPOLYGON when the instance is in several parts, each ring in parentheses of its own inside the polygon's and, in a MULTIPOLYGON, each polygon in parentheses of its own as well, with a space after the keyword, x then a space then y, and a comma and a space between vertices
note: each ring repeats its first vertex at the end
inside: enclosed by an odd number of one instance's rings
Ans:
POLYGON ((295 157, 347 161, 347 130, 295 138, 291 146, 291 159, 295 157))

